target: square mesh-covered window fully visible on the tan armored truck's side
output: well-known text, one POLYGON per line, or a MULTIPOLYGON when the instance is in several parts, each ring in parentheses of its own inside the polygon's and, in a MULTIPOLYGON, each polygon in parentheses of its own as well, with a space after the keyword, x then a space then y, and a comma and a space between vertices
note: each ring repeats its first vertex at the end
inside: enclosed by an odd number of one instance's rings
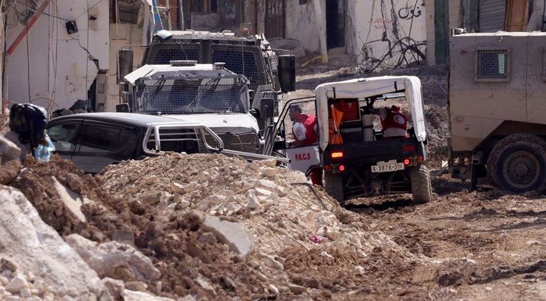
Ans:
POLYGON ((474 81, 510 81, 508 49, 478 49, 474 81))

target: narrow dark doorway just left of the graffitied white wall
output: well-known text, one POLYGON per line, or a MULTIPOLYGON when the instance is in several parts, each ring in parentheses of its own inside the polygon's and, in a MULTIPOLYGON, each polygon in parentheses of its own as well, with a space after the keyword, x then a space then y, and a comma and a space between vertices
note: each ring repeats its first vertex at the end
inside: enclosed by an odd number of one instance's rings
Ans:
POLYGON ((326 47, 345 47, 345 0, 326 0, 326 47))

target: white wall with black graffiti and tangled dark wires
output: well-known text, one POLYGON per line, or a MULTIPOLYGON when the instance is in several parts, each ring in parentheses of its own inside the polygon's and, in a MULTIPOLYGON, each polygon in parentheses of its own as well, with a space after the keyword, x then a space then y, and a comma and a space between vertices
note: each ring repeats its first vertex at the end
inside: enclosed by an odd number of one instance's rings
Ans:
POLYGON ((424 0, 355 0, 355 10, 350 14, 355 23, 354 50, 359 62, 365 59, 366 51, 370 58, 384 58, 385 67, 404 66, 417 58, 423 60, 408 46, 416 46, 425 54, 424 0))

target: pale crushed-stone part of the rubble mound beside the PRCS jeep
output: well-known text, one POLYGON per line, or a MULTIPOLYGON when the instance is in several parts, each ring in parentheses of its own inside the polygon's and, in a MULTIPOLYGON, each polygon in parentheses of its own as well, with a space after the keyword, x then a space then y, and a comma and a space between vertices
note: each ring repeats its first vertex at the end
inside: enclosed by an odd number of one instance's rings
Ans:
POLYGON ((98 179, 113 196, 154 205, 162 215, 181 208, 238 220, 257 238, 256 251, 266 255, 290 246, 312 248, 312 235, 363 256, 378 246, 393 247, 370 235, 360 216, 341 209, 329 195, 313 195, 303 173, 277 168, 275 160, 248 163, 218 154, 173 153, 112 165, 98 179))

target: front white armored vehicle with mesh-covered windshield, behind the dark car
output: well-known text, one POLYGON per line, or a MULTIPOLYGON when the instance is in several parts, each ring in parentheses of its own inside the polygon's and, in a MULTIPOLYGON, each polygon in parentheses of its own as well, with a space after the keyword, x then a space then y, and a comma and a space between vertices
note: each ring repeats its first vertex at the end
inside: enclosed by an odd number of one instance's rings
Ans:
MULTIPOLYGON (((128 102, 118 106, 118 111, 201 123, 222 138, 225 148, 261 153, 263 143, 256 113, 251 110, 248 79, 223 66, 196 61, 142 66, 125 76, 128 102)), ((273 123, 273 116, 268 120, 273 123)))

